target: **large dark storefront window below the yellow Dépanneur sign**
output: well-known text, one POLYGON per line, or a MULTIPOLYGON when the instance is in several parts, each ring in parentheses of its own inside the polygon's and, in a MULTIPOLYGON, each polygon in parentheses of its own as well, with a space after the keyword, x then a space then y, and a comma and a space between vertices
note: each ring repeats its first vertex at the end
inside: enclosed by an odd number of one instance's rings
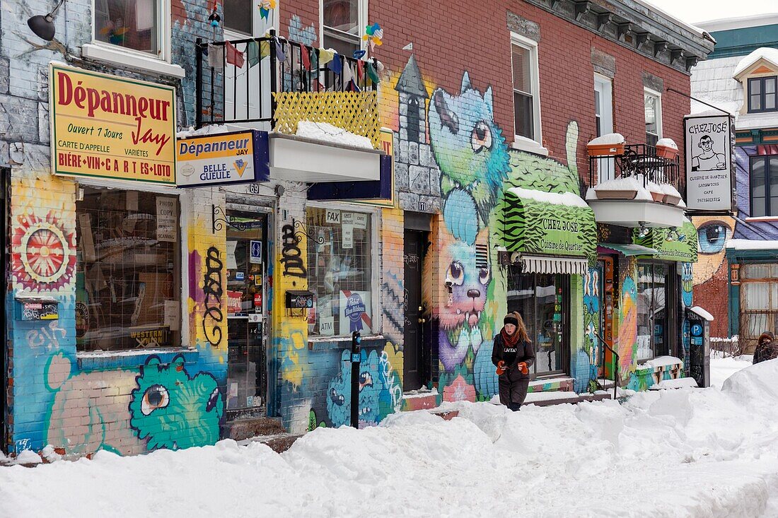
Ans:
POLYGON ((180 345, 178 198, 85 187, 75 210, 79 350, 180 345))

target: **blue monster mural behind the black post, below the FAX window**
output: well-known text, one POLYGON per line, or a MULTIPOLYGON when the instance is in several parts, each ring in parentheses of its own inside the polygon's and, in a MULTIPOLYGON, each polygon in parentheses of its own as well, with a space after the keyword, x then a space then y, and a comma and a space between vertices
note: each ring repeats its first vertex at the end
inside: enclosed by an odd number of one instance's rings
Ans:
MULTIPOLYGON (((351 422, 351 352, 341 354, 341 370, 327 389, 327 413, 333 426, 351 422)), ((359 371, 359 426, 377 425, 400 410, 401 388, 385 353, 362 349, 359 371)))

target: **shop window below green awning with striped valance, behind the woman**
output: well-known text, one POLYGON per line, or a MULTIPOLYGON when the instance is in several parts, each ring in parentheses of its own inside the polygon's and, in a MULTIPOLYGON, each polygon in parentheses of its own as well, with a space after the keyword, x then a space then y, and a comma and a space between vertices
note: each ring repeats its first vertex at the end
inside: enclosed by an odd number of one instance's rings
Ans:
POLYGON ((508 311, 524 319, 535 351, 534 374, 565 369, 565 313, 567 290, 563 275, 521 274, 511 267, 508 277, 508 311))

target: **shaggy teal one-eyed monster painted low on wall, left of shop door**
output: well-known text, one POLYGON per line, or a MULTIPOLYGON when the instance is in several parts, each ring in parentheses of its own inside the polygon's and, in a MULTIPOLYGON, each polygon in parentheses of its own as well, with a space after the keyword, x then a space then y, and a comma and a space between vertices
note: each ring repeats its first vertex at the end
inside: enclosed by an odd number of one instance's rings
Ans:
POLYGON ((148 439, 149 450, 179 450, 219 440, 224 400, 209 373, 190 377, 181 355, 168 365, 151 356, 135 382, 130 426, 139 439, 148 439))

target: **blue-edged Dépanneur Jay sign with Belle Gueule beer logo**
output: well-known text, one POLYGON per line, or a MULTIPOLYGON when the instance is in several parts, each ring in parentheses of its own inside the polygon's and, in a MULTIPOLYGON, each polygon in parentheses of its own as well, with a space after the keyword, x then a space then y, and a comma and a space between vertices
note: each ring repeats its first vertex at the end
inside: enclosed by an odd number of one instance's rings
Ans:
POLYGON ((178 187, 251 184, 270 179, 267 131, 179 138, 176 152, 178 187))

